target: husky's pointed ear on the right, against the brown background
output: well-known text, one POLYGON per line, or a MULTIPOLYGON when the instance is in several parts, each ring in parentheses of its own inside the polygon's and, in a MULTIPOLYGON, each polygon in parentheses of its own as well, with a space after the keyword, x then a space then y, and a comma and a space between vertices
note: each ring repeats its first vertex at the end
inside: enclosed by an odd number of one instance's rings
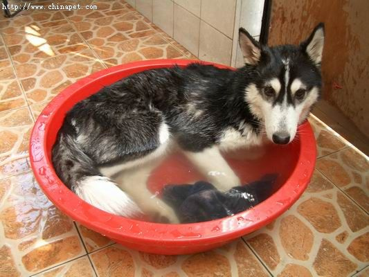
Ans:
POLYGON ((301 47, 317 66, 321 65, 324 46, 324 24, 318 24, 301 47))

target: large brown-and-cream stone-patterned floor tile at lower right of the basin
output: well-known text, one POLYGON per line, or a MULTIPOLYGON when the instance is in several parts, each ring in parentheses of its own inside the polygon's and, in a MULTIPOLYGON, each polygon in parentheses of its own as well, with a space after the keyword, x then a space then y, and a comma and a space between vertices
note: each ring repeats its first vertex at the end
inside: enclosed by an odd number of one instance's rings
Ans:
POLYGON ((247 235, 273 276, 352 276, 368 262, 369 217, 317 170, 296 204, 247 235))

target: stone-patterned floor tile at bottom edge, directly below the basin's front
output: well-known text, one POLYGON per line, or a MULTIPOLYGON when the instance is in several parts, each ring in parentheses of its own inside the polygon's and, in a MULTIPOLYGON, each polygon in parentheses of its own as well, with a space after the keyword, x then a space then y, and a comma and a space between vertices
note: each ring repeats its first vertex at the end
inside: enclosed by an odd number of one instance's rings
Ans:
POLYGON ((194 255, 165 256, 114 244, 89 254, 98 276, 249 276, 267 277, 266 269, 241 240, 194 255), (117 266, 118 265, 118 266, 117 266), (110 275, 109 275, 110 274, 110 275), (140 275, 141 274, 141 275, 140 275))

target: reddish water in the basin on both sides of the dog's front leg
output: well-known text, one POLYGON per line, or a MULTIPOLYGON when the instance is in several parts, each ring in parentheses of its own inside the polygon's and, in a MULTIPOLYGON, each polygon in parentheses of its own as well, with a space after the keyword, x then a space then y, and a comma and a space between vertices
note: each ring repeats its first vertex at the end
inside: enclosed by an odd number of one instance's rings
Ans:
MULTIPOLYGON (((267 174, 277 174, 278 179, 273 185, 273 192, 276 192, 296 166, 298 151, 294 148, 298 147, 299 143, 291 143, 287 146, 268 145, 265 154, 259 159, 242 159, 242 150, 233 154, 224 154, 224 158, 242 184, 256 181, 267 174)), ((147 186, 152 193, 160 193, 166 184, 193 184, 194 181, 199 180, 206 180, 206 177, 202 176, 186 157, 177 152, 167 157, 153 170, 147 186)))

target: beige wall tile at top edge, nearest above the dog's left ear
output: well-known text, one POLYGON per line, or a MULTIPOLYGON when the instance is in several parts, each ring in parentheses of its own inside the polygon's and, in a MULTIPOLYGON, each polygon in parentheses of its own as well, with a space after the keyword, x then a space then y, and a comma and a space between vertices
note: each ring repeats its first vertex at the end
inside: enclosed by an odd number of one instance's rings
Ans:
POLYGON ((236 0, 201 0, 201 20, 233 37, 236 0))

